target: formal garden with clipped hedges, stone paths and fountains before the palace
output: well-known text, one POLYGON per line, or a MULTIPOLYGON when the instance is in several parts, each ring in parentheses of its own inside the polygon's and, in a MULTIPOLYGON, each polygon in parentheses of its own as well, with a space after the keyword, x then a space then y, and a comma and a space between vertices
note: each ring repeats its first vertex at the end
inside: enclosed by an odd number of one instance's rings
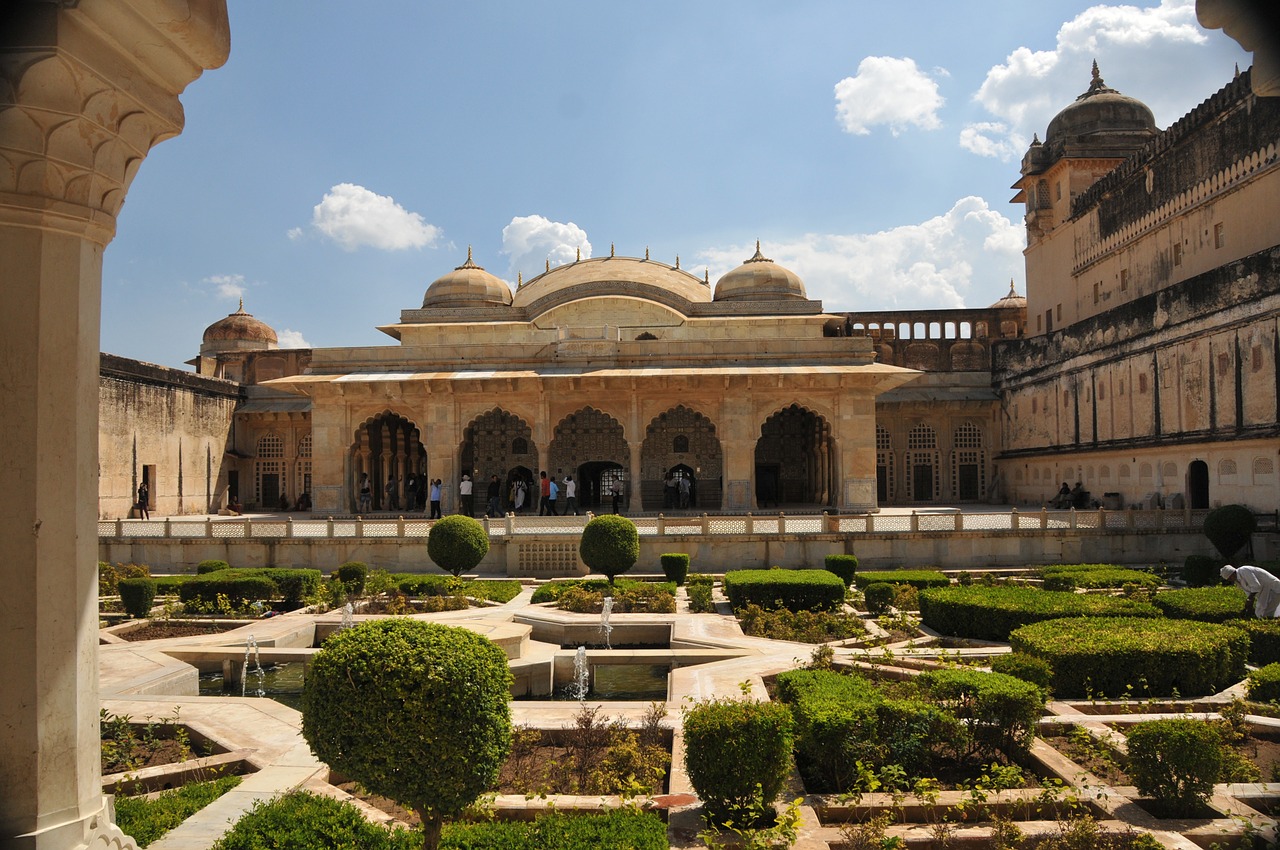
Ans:
MULTIPOLYGON (((604 579, 524 595, 518 581, 465 579, 466 568, 211 565, 173 584, 115 575, 122 607, 133 580, 168 588, 145 599, 152 625, 221 629, 252 612, 259 629, 311 617, 324 634, 298 650, 298 731, 333 791, 259 804, 216 846, 310 846, 311 824, 351 846, 476 849, 785 847, 801 833, 831 847, 1268 840, 1280 629, 1251 618, 1249 598, 1202 563, 948 575, 831 556, 823 568, 717 576, 671 553, 632 577, 627 529, 613 521, 591 536, 582 558, 604 579), (209 598, 216 611, 200 612, 209 598), (192 600, 192 614, 166 617, 192 600), (498 618, 466 620, 485 612, 498 618), (453 618, 431 620, 444 613, 453 618), (632 620, 664 623, 664 648, 613 646, 602 631, 575 653, 543 634, 632 620), (525 638, 500 643, 490 622, 525 638), (613 654, 663 652, 677 658, 667 699, 588 698, 613 654), (582 690, 576 702, 571 691, 567 703, 512 703, 517 682, 538 676, 582 690)), ((104 755, 127 754, 116 773, 147 769, 131 735, 179 760, 218 755, 175 718, 150 730, 127 721, 104 717, 104 755)), ((227 773, 183 791, 216 796, 237 780, 227 773)))

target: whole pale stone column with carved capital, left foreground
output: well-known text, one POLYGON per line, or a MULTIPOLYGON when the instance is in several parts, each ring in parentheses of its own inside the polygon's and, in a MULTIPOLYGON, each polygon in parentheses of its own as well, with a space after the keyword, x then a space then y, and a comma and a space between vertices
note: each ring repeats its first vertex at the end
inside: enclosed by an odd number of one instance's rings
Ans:
POLYGON ((177 95, 229 49, 223 0, 9 3, 0 29, 0 844, 132 847, 99 771, 102 250, 177 95))

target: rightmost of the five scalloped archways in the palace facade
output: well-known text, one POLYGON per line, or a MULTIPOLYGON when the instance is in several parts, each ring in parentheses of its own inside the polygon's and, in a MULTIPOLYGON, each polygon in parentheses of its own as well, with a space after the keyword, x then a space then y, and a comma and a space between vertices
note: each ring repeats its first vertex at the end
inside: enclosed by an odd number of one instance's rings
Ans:
POLYGON ((759 507, 832 503, 836 443, 813 411, 791 405, 760 426, 755 442, 755 502, 759 507))

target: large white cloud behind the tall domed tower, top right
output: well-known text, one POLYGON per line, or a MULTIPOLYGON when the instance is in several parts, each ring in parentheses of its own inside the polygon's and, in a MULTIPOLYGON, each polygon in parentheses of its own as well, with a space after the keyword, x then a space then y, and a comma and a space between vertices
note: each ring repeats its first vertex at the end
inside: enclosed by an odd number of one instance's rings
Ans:
POLYGON ((1157 124, 1167 127, 1226 84, 1242 58, 1247 64, 1229 38, 1210 38, 1199 28, 1194 0, 1094 5, 1059 28, 1052 50, 1020 46, 987 72, 974 100, 1006 131, 961 133, 960 143, 1000 159, 1010 146, 1024 151, 1032 133, 1043 138, 1050 119, 1088 88, 1094 59, 1108 86, 1147 104, 1157 124), (996 138, 1001 132, 1004 138, 996 138))

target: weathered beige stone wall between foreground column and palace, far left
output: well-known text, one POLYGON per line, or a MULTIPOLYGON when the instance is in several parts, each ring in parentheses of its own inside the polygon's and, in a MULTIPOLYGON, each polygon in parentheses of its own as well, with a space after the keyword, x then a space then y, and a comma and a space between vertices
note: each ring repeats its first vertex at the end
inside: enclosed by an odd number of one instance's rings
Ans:
POLYGON ((156 516, 216 511, 241 396, 230 381, 101 355, 99 517, 129 516, 143 476, 156 516))

